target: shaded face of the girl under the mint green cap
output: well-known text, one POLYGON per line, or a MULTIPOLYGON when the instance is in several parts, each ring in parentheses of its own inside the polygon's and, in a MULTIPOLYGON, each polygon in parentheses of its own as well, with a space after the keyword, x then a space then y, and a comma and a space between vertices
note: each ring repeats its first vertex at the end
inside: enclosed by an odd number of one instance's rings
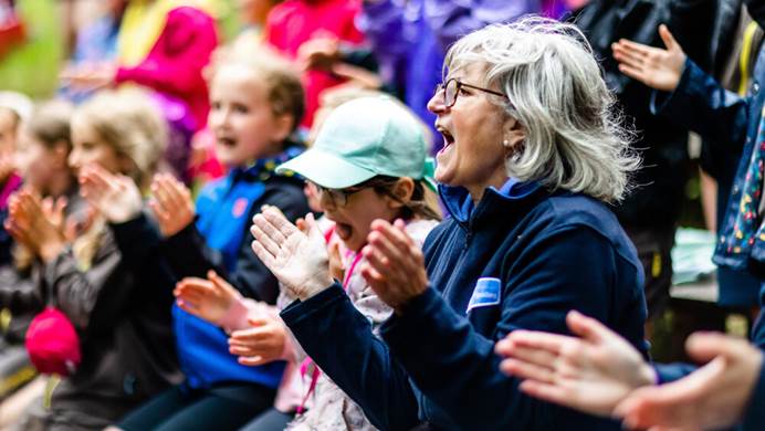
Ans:
POLYGON ((373 188, 348 195, 345 206, 337 204, 326 192, 318 196, 324 214, 335 222, 335 233, 348 250, 355 252, 367 243, 373 221, 392 221, 400 211, 400 206, 391 197, 380 195, 373 188))

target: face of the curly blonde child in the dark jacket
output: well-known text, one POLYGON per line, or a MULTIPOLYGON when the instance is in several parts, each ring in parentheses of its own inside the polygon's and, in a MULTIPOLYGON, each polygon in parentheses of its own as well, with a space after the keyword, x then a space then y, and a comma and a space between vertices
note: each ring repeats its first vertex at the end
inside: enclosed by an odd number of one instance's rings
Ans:
POLYGON ((112 174, 122 172, 120 157, 116 149, 106 144, 90 124, 75 116, 72 119, 72 153, 69 155, 69 166, 78 174, 80 169, 94 164, 101 165, 112 174))

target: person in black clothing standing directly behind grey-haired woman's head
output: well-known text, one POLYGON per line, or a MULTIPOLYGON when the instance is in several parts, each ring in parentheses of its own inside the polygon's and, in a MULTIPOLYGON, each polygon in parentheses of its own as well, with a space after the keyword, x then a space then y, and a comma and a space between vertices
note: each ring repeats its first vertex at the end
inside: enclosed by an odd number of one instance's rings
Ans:
POLYGON ((622 73, 611 57, 611 43, 629 39, 658 45, 661 41, 656 29, 664 22, 679 34, 689 55, 709 69, 716 1, 590 0, 578 3, 580 8, 573 10, 569 21, 581 29, 596 56, 601 59, 605 80, 617 95, 622 122, 636 130, 632 148, 643 159, 642 168, 633 178, 635 190, 614 212, 638 249, 643 266, 650 339, 652 324, 670 299, 671 250, 689 171, 688 129, 651 113, 651 90, 622 73))

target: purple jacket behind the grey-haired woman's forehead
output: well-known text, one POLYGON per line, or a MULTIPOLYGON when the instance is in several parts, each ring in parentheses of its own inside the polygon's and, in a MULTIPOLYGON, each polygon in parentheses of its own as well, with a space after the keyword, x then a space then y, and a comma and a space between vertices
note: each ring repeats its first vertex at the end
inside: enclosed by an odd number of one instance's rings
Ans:
MULTIPOLYGON (((539 11, 538 0, 365 0, 358 28, 371 43, 382 78, 402 90, 407 105, 432 127, 436 116, 427 104, 441 82, 449 45, 486 24, 539 11)), ((434 144, 437 151, 441 139, 434 144)))

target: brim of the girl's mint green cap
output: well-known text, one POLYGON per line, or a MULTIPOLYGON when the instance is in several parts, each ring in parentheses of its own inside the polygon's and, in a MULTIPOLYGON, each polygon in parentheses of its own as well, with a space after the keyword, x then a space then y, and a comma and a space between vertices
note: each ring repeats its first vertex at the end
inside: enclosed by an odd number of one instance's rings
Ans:
POLYGON ((276 168, 276 174, 293 171, 307 180, 329 189, 356 186, 375 176, 375 172, 349 164, 334 154, 315 148, 289 160, 276 168))

